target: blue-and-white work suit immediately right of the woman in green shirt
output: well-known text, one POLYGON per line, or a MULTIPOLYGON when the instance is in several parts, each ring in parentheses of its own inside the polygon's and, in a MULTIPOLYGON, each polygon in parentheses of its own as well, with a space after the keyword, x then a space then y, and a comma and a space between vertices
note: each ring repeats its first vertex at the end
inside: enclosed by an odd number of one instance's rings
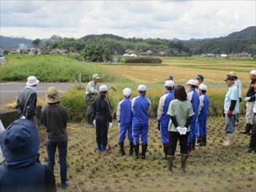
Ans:
POLYGON ((190 136, 188 140, 188 146, 196 141, 197 138, 197 118, 198 118, 198 107, 199 107, 199 96, 196 90, 190 90, 188 98, 192 104, 194 115, 190 122, 190 136))

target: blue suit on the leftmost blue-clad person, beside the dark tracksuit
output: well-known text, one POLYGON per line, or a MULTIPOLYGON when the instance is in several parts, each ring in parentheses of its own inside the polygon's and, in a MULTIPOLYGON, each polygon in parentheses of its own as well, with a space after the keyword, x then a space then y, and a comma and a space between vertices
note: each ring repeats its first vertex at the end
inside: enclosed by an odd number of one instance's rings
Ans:
POLYGON ((132 137, 132 120, 133 112, 131 110, 130 98, 124 98, 118 104, 117 119, 120 123, 119 142, 124 142, 126 138, 126 131, 128 131, 128 139, 133 142, 132 137))

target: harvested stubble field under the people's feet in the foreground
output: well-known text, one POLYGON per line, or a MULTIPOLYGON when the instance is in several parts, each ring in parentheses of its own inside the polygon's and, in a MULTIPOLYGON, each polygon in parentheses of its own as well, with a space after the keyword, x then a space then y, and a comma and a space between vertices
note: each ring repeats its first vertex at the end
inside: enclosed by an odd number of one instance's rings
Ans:
MULTIPOLYGON (((157 123, 150 120, 149 146, 146 160, 126 154, 118 154, 118 127, 114 122, 109 130, 109 148, 106 154, 98 154, 95 129, 85 123, 68 124, 68 179, 70 186, 65 191, 254 191, 255 153, 246 154, 249 136, 239 134, 244 129, 245 118, 241 117, 236 129, 234 146, 222 146, 226 140, 225 120, 213 117, 208 120, 207 146, 197 147, 187 161, 186 173, 181 173, 179 147, 174 160, 174 174, 166 172, 166 160, 157 123)), ((46 133, 40 133, 40 159, 46 163, 46 133)), ((125 142, 126 153, 129 142, 125 142)), ((141 148, 140 148, 141 151, 141 148)), ((55 177, 60 186, 58 154, 55 177)), ((63 190, 64 191, 64 190, 63 190)))

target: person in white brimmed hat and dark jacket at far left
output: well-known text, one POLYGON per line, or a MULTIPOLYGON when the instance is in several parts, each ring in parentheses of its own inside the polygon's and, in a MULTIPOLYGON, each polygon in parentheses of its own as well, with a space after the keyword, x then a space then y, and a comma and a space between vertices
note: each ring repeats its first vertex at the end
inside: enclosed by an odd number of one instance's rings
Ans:
POLYGON ((16 109, 22 119, 29 119, 37 125, 36 106, 38 100, 37 85, 38 78, 30 76, 27 78, 26 87, 18 94, 16 109))

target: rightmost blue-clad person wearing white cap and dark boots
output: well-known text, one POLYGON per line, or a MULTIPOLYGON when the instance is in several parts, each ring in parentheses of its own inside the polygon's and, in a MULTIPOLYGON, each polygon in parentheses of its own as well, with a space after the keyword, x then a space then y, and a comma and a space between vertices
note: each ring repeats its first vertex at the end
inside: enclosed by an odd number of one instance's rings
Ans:
POLYGON ((208 118, 208 108, 210 100, 206 95, 207 86, 201 84, 198 89, 199 109, 198 109, 198 146, 206 146, 206 122, 208 118))

